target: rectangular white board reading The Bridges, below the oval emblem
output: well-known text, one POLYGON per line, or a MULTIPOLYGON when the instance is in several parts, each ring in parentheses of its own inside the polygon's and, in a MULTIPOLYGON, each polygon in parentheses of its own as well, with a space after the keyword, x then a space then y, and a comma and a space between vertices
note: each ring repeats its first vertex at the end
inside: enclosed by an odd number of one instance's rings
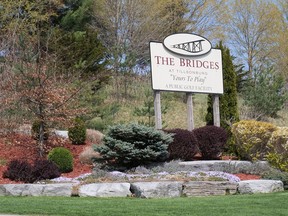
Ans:
POLYGON ((154 90, 223 94, 221 50, 179 55, 162 43, 150 42, 150 55, 154 90))

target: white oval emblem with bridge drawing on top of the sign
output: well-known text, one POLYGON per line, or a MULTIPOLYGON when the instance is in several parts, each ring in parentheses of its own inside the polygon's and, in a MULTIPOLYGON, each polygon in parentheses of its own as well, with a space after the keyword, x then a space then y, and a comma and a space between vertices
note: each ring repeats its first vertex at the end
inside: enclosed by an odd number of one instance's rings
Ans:
POLYGON ((164 47, 170 52, 184 56, 201 56, 211 51, 212 45, 206 38, 190 33, 177 33, 164 39, 164 47))

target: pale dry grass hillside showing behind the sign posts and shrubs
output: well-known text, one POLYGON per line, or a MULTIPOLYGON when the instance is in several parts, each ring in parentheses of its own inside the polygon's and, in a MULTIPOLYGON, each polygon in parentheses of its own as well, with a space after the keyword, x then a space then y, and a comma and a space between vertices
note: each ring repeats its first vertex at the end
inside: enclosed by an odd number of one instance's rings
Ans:
MULTIPOLYGON (((123 84, 121 90, 123 91, 123 84)), ((130 80, 128 85, 128 97, 122 97, 118 102, 120 103, 120 110, 113 117, 113 123, 130 123, 140 120, 139 117, 133 115, 135 107, 141 108, 146 98, 145 92, 151 89, 151 79, 149 77, 142 80, 130 80)), ((115 83, 105 87, 105 95, 108 96, 106 102, 116 102, 115 83)), ((122 92, 123 95, 123 92, 122 92)), ((153 98, 153 97, 152 97, 153 98)), ((181 92, 161 92, 161 105, 167 106, 167 113, 162 115, 163 125, 167 129, 183 128, 187 129, 187 104, 185 102, 185 93, 181 92)), ((251 119, 251 110, 244 105, 243 98, 238 97, 238 111, 240 119, 251 119)), ((193 115, 195 128, 206 125, 205 115, 207 112, 207 94, 193 95, 193 115)), ((153 117, 154 118, 154 117, 153 117)), ((285 106, 278 112, 277 118, 267 118, 265 121, 271 122, 276 126, 286 126, 288 124, 288 110, 285 106)))

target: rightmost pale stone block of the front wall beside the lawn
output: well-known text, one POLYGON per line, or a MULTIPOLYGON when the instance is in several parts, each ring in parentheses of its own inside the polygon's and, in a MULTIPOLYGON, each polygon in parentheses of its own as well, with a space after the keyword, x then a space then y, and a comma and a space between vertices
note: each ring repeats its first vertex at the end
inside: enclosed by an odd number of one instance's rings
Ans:
POLYGON ((239 182, 240 194, 272 193, 284 191, 283 182, 279 180, 246 180, 239 182))

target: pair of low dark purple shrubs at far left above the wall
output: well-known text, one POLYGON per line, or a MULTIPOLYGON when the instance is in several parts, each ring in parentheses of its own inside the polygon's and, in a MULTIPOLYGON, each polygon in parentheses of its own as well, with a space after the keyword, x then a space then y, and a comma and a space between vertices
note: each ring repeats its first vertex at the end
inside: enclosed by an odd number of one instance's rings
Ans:
POLYGON ((4 171, 3 177, 13 181, 33 183, 35 181, 53 179, 60 176, 55 163, 49 160, 35 160, 31 165, 27 161, 12 160, 4 171))

